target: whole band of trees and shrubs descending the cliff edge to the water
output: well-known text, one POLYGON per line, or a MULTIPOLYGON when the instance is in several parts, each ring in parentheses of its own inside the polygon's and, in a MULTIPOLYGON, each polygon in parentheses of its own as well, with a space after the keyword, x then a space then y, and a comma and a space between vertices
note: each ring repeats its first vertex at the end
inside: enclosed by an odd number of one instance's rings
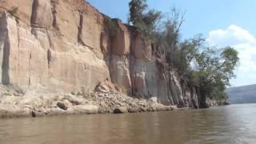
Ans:
POLYGON ((185 13, 175 8, 169 17, 163 17, 161 12, 149 10, 146 0, 132 0, 129 6, 129 24, 153 40, 157 49, 165 50, 162 62, 167 63, 166 69, 176 69, 184 81, 197 87, 201 107, 207 106, 206 98, 226 102, 225 90, 235 77, 238 51, 230 46, 209 46, 201 34, 181 40, 185 13))

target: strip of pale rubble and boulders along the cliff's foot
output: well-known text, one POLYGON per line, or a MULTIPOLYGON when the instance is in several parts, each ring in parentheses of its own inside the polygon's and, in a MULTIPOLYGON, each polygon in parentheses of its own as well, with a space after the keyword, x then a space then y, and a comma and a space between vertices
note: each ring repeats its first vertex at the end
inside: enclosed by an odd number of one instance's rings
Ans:
POLYGON ((98 88, 82 94, 24 94, 22 90, 4 87, 1 90, 0 118, 41 117, 66 114, 123 114, 175 110, 157 98, 131 98, 118 91, 98 88))

